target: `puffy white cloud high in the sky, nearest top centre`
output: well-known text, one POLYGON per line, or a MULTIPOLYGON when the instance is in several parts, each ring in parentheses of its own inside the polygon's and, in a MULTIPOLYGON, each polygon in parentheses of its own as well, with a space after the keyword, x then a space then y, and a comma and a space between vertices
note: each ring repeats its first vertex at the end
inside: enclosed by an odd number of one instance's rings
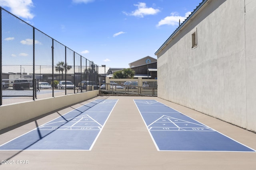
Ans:
POLYGON ((147 8, 146 3, 143 3, 143 2, 138 2, 138 4, 134 4, 134 6, 137 6, 138 9, 135 11, 132 11, 131 13, 127 13, 127 12, 123 12, 123 13, 128 16, 136 16, 136 17, 143 18, 146 15, 155 15, 158 12, 160 12, 159 9, 147 8))

